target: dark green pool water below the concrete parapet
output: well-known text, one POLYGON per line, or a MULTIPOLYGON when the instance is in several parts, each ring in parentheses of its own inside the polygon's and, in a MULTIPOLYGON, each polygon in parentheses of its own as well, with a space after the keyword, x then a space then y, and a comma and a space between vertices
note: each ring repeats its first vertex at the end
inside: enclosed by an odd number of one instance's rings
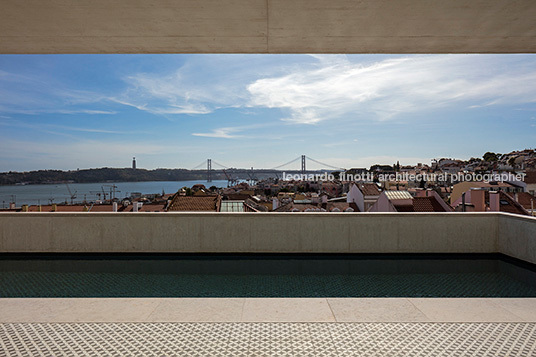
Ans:
POLYGON ((0 255, 0 297, 536 297, 502 255, 0 255))

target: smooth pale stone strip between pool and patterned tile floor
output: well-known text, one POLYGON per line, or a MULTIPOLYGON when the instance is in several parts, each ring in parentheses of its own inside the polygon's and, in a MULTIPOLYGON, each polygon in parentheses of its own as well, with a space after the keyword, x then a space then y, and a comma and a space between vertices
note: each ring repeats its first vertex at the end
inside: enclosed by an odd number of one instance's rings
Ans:
POLYGON ((536 322, 536 298, 1 298, 0 323, 536 322))

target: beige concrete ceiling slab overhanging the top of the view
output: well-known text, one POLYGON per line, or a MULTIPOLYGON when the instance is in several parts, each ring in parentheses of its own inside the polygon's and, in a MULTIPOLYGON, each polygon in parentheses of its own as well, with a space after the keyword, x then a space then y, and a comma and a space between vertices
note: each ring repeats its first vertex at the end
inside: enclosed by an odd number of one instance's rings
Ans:
POLYGON ((0 53, 534 53, 533 0, 1 0, 0 53))

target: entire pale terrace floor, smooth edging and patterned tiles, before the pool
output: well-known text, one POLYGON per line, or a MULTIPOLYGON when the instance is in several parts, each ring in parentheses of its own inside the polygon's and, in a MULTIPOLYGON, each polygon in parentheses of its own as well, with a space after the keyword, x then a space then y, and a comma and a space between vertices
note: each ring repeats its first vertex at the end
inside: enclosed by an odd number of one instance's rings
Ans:
POLYGON ((0 351, 533 356, 536 298, 4 298, 0 351))

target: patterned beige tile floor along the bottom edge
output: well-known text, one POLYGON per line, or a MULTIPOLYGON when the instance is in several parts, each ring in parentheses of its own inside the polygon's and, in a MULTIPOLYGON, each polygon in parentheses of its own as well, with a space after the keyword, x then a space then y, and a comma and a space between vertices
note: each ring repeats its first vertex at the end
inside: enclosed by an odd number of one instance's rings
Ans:
POLYGON ((1 356, 535 356, 536 323, 4 323, 1 356))

